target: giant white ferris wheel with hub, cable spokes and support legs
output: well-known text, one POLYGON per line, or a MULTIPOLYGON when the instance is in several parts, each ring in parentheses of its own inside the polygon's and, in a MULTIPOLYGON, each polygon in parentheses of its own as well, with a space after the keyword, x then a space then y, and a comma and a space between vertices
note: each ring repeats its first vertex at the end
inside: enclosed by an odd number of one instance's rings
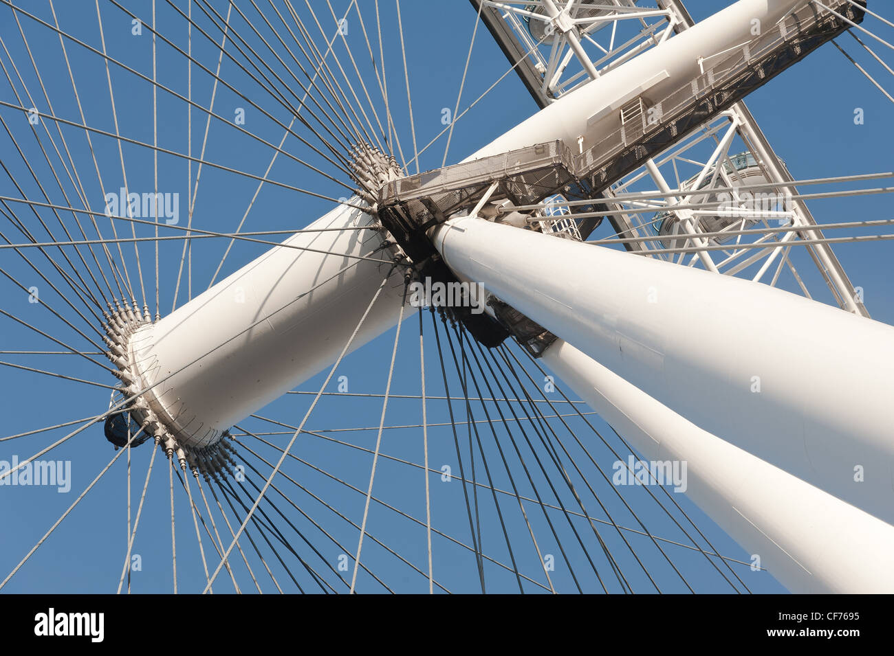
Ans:
POLYGON ((887 7, 0 5, 0 590, 894 591, 887 7))

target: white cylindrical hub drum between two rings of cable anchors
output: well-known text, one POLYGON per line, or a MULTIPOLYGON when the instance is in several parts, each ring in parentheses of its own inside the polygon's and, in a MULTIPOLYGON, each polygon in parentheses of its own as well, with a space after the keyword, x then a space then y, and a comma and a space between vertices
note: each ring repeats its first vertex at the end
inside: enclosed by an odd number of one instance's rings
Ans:
MULTIPOLYGON (((370 221, 340 206, 308 228, 370 221)), ((350 257, 391 257, 372 253, 382 244, 375 230, 302 232, 283 244, 344 255, 276 246, 131 338, 138 389, 170 376, 146 399, 181 444, 213 444, 233 423, 332 364, 392 269, 390 262, 350 257)), ((352 350, 394 325, 403 289, 402 271, 394 270, 352 350)))

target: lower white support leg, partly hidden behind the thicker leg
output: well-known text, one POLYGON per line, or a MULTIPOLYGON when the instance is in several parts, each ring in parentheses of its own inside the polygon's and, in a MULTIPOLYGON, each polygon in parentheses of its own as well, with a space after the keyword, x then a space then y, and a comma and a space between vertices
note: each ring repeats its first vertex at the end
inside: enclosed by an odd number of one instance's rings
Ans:
POLYGON ((645 460, 686 462, 687 497, 790 592, 894 593, 890 524, 698 428, 567 342, 543 361, 645 460))

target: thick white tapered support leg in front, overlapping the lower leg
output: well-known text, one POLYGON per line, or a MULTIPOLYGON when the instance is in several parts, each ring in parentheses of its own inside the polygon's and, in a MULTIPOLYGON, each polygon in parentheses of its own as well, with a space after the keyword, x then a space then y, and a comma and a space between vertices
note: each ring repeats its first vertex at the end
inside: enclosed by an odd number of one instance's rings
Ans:
POLYGON ((476 218, 452 270, 698 427, 894 519, 894 328, 740 278, 476 218))

